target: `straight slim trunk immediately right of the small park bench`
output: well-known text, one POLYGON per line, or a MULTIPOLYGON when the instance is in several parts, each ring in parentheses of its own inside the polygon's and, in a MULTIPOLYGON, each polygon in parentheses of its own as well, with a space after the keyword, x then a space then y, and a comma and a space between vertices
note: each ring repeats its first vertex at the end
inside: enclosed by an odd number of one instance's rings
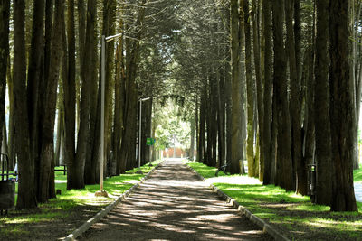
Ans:
POLYGON ((243 162, 243 136, 242 136, 242 88, 240 71, 240 28, 239 5, 232 0, 230 5, 231 18, 231 51, 232 51, 232 144, 231 168, 232 174, 241 173, 240 162, 243 162))

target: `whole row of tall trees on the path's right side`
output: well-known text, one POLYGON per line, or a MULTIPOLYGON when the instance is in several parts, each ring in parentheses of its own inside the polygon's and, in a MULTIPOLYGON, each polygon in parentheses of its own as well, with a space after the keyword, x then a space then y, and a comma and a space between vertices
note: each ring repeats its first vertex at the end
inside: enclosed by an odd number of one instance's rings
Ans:
POLYGON ((360 1, 187 5, 175 57, 198 160, 243 173, 246 156, 250 176, 303 195, 316 164, 315 201, 357 210, 360 1))

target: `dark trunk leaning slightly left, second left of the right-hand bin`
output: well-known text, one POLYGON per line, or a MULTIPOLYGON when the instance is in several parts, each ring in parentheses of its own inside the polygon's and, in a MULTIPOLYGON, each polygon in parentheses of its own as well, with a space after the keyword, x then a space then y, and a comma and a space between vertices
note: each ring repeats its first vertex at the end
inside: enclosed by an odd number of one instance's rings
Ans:
POLYGON ((278 118, 277 137, 277 185, 285 190, 294 190, 291 162, 291 117, 289 115, 286 55, 283 41, 284 0, 272 2, 274 29, 274 88, 278 118))

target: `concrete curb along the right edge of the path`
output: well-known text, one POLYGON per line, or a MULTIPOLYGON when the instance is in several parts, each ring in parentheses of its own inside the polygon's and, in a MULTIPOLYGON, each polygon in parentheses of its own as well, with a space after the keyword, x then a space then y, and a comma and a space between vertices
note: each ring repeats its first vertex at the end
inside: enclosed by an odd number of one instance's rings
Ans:
MULTIPOLYGON (((195 169, 192 167, 186 166, 193 171, 202 181, 205 181, 205 178, 200 175, 195 169)), ((224 193, 224 191, 220 190, 219 188, 215 187, 214 184, 210 185, 210 189, 214 190, 214 192, 219 195, 219 197, 223 198, 226 202, 230 203, 233 208, 238 209, 243 215, 246 216, 246 218, 249 218, 249 220, 252 221, 252 223, 256 224, 258 227, 262 228, 262 231, 265 233, 268 233, 270 236, 272 236, 275 240, 285 240, 289 241, 286 236, 281 235, 275 228, 271 227, 271 225, 267 224, 262 218, 258 218, 257 216, 253 215, 251 211, 248 209, 245 209, 242 205, 240 205, 235 199, 230 198, 227 194, 224 193)))

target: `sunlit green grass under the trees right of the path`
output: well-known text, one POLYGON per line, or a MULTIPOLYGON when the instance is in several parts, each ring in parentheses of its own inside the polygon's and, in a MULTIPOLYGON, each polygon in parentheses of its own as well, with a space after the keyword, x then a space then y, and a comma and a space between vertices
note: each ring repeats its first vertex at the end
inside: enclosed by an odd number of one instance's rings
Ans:
POLYGON ((215 178, 215 168, 198 162, 187 164, 204 176, 205 181, 213 183, 290 239, 360 240, 362 238, 360 202, 357 203, 359 212, 333 213, 329 212, 328 206, 312 204, 307 196, 287 192, 274 185, 263 186, 258 180, 246 176, 215 178))

